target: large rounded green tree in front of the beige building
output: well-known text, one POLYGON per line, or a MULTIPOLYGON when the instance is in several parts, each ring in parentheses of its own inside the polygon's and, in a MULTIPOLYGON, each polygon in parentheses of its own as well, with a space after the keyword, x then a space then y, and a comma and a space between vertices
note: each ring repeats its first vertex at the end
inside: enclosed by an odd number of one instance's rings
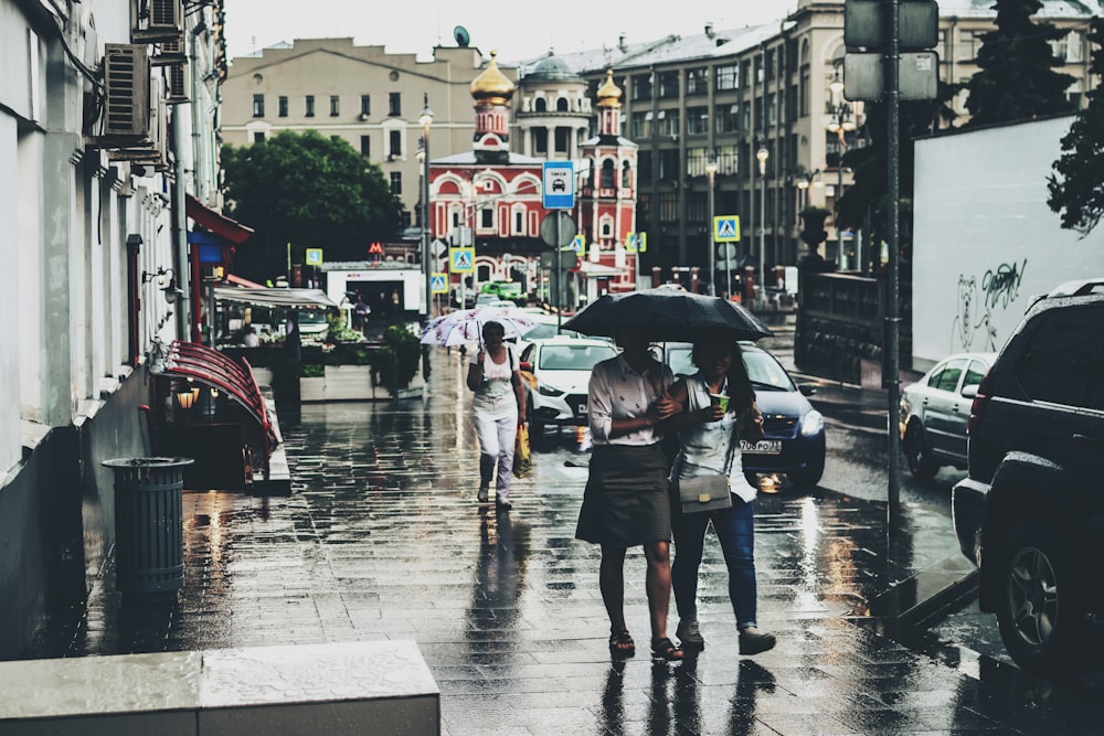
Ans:
POLYGON ((234 256, 234 270, 264 280, 305 262, 307 248, 327 260, 360 260, 369 243, 393 236, 402 204, 379 167, 344 139, 315 130, 282 132, 263 142, 224 146, 229 214, 257 232, 234 256))

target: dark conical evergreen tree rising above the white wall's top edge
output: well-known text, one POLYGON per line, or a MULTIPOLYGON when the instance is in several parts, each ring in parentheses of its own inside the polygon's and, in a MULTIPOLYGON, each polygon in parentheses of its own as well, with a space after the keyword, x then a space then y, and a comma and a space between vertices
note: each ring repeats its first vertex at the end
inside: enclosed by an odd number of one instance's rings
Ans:
POLYGON ((1033 22, 1041 8, 1039 0, 996 0, 997 28, 981 36, 979 71, 967 84, 969 127, 1072 109, 1065 88, 1073 77, 1054 71, 1062 62, 1050 46, 1068 31, 1033 22))

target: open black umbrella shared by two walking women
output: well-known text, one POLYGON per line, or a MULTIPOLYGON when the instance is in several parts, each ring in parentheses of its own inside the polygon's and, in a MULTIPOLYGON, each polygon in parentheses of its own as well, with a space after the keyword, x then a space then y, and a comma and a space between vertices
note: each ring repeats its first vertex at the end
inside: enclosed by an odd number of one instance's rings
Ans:
POLYGON ((664 288, 604 296, 563 327, 609 338, 628 329, 654 341, 692 341, 715 332, 733 340, 758 340, 774 334, 755 314, 734 301, 664 288))

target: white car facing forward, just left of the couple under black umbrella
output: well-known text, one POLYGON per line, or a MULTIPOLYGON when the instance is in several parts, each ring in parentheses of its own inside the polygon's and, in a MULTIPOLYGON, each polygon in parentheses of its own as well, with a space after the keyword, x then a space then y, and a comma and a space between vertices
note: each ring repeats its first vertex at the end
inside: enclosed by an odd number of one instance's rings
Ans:
POLYGON ((586 388, 595 363, 617 349, 605 340, 556 337, 538 340, 521 353, 521 370, 537 386, 527 386, 529 430, 537 437, 546 425, 586 424, 586 388))

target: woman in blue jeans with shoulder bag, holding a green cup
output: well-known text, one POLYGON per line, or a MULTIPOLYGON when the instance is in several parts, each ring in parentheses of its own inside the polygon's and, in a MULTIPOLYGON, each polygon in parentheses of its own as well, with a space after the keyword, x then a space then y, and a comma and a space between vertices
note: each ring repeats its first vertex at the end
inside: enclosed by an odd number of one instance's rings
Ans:
POLYGON ((724 337, 693 343, 698 373, 671 388, 671 398, 686 407, 672 417, 679 428, 679 454, 671 470, 671 505, 675 531, 675 562, 671 578, 679 611, 679 642, 686 648, 704 649, 698 622, 698 568, 712 523, 729 572, 729 599, 736 617, 741 654, 772 649, 774 636, 757 628, 755 589, 755 488, 744 478, 740 438, 760 439, 763 418, 755 407, 755 392, 740 351, 740 344, 724 337), (728 406, 713 396, 726 396, 728 406), (679 482, 688 478, 728 473, 732 505, 714 511, 683 513, 679 482))

